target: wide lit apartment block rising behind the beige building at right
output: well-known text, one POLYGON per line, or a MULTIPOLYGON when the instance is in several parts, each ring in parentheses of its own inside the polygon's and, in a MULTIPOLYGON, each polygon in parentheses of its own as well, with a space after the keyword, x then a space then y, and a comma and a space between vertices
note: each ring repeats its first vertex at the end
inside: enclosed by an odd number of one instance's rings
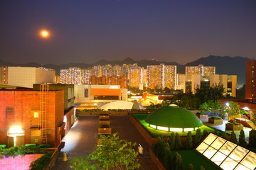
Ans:
POLYGON ((199 64, 198 66, 186 67, 186 81, 191 81, 192 75, 195 74, 199 74, 201 76, 209 76, 211 74, 215 74, 215 67, 203 66, 203 64, 199 64))

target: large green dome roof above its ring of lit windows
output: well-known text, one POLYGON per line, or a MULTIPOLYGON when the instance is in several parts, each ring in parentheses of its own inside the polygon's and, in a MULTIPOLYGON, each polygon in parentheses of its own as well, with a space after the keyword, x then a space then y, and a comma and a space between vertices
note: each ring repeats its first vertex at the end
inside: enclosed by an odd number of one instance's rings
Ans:
POLYGON ((168 128, 198 128, 203 125, 202 121, 186 108, 170 105, 151 113, 146 123, 168 128))

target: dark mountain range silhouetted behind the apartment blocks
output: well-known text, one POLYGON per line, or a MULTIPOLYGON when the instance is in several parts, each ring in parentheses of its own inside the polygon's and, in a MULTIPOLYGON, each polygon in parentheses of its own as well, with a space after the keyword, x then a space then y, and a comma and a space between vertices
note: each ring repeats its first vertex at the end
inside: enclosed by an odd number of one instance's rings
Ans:
POLYGON ((208 57, 201 57, 193 62, 188 62, 187 64, 178 64, 176 62, 159 62, 157 60, 132 60, 131 58, 126 58, 122 61, 108 61, 100 60, 94 64, 85 63, 68 63, 68 64, 38 64, 36 62, 29 62, 26 64, 15 64, 12 62, 6 62, 0 59, 0 66, 19 66, 19 67, 46 67, 50 69, 55 69, 56 73, 59 74, 60 69, 68 69, 68 67, 79 67, 81 69, 87 69, 94 65, 105 65, 105 64, 134 64, 137 63, 139 67, 146 68, 147 65, 158 65, 164 63, 166 65, 176 65, 177 73, 185 73, 186 66, 198 66, 198 64, 203 64, 204 66, 215 66, 216 74, 228 74, 237 75, 238 84, 245 83, 245 63, 252 59, 247 57, 229 57, 229 56, 215 56, 209 55, 208 57))

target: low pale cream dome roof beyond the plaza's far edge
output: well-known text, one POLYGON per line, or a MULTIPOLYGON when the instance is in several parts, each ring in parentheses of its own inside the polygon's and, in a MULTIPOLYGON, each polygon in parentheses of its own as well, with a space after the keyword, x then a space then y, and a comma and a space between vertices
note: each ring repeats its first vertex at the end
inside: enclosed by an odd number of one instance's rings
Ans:
POLYGON ((105 105, 99 106, 98 108, 103 110, 108 109, 144 109, 141 103, 129 102, 129 101, 114 101, 106 103, 105 105))

